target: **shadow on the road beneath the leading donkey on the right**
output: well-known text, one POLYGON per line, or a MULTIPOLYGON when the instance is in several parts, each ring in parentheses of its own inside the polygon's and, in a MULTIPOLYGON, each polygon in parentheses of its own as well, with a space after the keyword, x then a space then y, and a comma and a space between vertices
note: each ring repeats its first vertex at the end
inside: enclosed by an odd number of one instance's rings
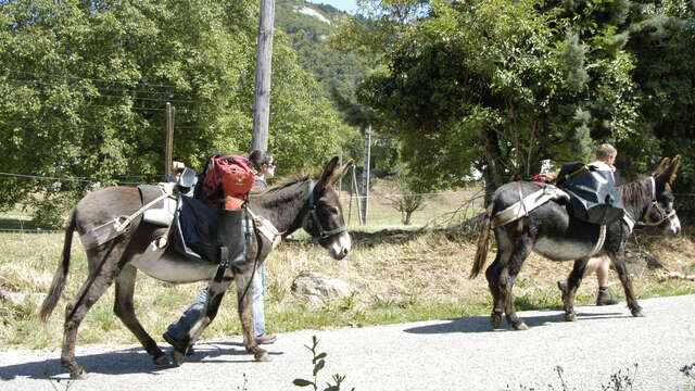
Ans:
MULTIPOLYGON (((565 323, 564 313, 557 313, 557 311, 547 310, 547 315, 539 316, 521 316, 529 327, 545 326, 547 324, 565 323)), ((622 312, 615 313, 577 313, 577 316, 581 320, 606 318, 606 317, 630 317, 622 312)), ((493 330, 490 326, 490 316, 469 316, 455 319, 448 319, 447 324, 428 325, 421 327, 413 327, 405 329, 405 332, 410 333, 446 333, 446 332, 494 332, 501 331, 500 329, 493 330)), ((511 327, 506 323, 506 319, 502 321, 502 327, 510 329, 511 327)))

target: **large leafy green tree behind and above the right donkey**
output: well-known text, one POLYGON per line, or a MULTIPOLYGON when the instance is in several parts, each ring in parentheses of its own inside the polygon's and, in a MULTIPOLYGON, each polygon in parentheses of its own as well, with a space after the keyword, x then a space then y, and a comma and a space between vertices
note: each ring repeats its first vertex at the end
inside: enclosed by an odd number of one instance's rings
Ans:
POLYGON ((623 18, 596 23, 622 8, 370 3, 374 17, 341 33, 382 64, 358 97, 403 141, 410 169, 433 186, 463 185, 481 172, 491 191, 536 173, 543 159, 583 159, 594 139, 633 131, 633 60, 618 34, 623 18))

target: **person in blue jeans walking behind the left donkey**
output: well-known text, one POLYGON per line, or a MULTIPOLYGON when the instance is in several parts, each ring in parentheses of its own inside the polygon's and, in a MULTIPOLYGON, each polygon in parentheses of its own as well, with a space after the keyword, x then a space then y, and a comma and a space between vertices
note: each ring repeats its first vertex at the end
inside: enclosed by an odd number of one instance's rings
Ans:
MULTIPOLYGON (((275 176, 275 163, 273 154, 261 150, 254 150, 249 155, 249 161, 254 168, 255 181, 253 184, 254 190, 265 189, 268 185, 266 178, 273 178, 275 176)), ((256 342, 261 344, 274 343, 277 339, 275 335, 267 335, 265 332, 265 264, 262 264, 253 276, 251 282, 251 301, 253 306, 253 327, 256 332, 256 342)), ((166 342, 176 346, 178 341, 184 340, 193 325, 200 318, 203 310, 205 308, 205 302, 207 301, 207 288, 193 300, 181 317, 170 324, 166 328, 166 332, 162 336, 166 342)), ((188 350, 188 354, 192 354, 193 349, 188 350)))

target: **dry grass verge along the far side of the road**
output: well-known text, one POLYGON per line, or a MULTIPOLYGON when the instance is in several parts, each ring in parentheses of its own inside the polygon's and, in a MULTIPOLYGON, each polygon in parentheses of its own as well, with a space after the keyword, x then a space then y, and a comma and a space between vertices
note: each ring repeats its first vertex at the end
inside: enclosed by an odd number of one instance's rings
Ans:
MULTIPOLYGON (((452 235, 408 231, 353 231, 353 252, 340 262, 311 243, 281 245, 270 255, 267 261, 266 315, 271 332, 489 313, 490 295, 485 279, 467 278, 475 253, 471 242, 452 235), (319 303, 295 297, 290 287, 301 270, 317 270, 341 278, 356 287, 357 293, 353 298, 319 303)), ((0 345, 4 349, 55 348, 60 344, 65 300, 75 295, 87 274, 84 252, 79 244, 74 243, 71 276, 63 300, 50 321, 46 326, 40 325, 36 319, 37 301, 40 301, 38 294, 48 291, 62 241, 60 234, 0 235, 0 291, 27 293, 24 301, 15 304, 0 299, 0 345)), ((631 264, 631 270, 640 298, 695 292, 693 281, 661 278, 665 269, 693 274, 695 243, 691 236, 642 242, 650 255, 631 255, 637 260, 631 264), (655 268, 658 263, 662 268, 655 268)), ((489 262, 492 256, 494 248, 489 262)), ((555 283, 567 276, 570 267, 570 264, 553 263, 532 255, 515 288, 518 307, 559 307, 555 283)), ((615 275, 611 280, 618 283, 615 275)), ((159 339, 168 323, 179 316, 203 287, 203 282, 173 286, 140 275, 136 308, 141 323, 159 339)), ((614 290, 622 293, 619 287, 614 290)), ((595 278, 586 278, 580 289, 579 303, 592 303, 595 291, 595 278)), ((217 319, 203 338, 239 335, 235 300, 229 299, 223 303, 217 319)), ((113 288, 88 314, 80 327, 79 344, 137 343, 115 317, 112 307, 113 288)))

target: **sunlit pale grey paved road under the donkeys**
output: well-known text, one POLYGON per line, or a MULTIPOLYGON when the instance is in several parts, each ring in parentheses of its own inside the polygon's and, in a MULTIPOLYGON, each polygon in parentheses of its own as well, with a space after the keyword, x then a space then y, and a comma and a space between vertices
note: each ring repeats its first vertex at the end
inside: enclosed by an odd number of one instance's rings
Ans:
MULTIPOLYGON (((619 370, 632 376, 635 363, 633 390, 681 390, 687 379, 679 369, 695 363, 695 295, 641 303, 644 318, 623 304, 579 307, 577 323, 559 310, 523 312, 528 331, 491 331, 488 317, 476 316, 283 333, 270 363, 252 362, 239 339, 200 343, 178 368, 153 366, 139 346, 78 346, 90 374, 70 390, 300 390, 292 380, 311 376, 303 345, 313 335, 328 353, 320 386, 342 374, 343 390, 564 390, 557 366, 567 390, 602 390, 619 370)), ((0 391, 66 389, 59 355, 0 353, 0 391)))

